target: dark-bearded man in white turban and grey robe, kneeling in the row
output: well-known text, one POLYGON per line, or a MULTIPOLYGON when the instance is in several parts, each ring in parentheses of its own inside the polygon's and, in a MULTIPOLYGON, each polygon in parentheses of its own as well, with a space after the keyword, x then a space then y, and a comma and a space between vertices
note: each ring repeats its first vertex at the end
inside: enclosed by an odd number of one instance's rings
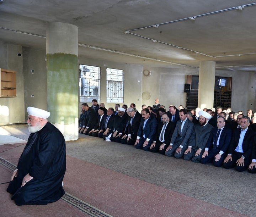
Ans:
POLYGON ((188 141, 188 148, 184 152, 184 159, 191 160, 193 162, 200 162, 207 140, 209 138, 210 132, 213 128, 212 125, 208 124, 208 120, 212 117, 209 113, 205 111, 198 112, 199 124, 194 126, 195 138, 188 141))

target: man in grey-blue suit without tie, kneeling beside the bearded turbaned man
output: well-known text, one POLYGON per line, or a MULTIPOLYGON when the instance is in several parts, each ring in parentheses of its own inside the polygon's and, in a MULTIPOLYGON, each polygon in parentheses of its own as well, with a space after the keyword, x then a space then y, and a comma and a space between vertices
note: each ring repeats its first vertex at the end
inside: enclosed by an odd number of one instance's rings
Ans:
POLYGON ((174 133, 172 134, 171 143, 165 151, 166 156, 175 156, 181 158, 188 148, 188 140, 190 139, 194 124, 187 119, 186 109, 181 109, 179 112, 180 121, 177 122, 174 133))

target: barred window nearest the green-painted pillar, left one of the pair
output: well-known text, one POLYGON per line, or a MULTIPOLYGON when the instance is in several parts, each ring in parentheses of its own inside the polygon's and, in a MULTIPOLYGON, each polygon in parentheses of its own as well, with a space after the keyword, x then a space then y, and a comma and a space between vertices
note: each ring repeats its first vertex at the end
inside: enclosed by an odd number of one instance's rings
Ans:
POLYGON ((79 65, 80 102, 100 101, 100 67, 79 65))

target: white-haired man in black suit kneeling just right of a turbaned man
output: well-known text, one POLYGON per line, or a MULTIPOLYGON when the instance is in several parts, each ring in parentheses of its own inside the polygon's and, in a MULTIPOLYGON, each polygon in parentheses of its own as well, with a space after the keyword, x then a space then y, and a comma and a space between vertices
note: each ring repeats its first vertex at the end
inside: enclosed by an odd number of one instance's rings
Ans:
POLYGON ((134 145, 142 116, 140 113, 135 112, 132 107, 128 108, 126 112, 129 116, 128 125, 120 142, 122 144, 134 145))

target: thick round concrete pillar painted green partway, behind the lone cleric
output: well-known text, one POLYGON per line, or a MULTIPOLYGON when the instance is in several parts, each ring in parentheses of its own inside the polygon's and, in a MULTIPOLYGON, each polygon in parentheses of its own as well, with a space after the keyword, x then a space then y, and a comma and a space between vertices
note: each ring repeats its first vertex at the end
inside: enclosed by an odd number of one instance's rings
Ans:
POLYGON ((50 22, 46 29, 49 121, 66 141, 78 139, 78 27, 50 22))

